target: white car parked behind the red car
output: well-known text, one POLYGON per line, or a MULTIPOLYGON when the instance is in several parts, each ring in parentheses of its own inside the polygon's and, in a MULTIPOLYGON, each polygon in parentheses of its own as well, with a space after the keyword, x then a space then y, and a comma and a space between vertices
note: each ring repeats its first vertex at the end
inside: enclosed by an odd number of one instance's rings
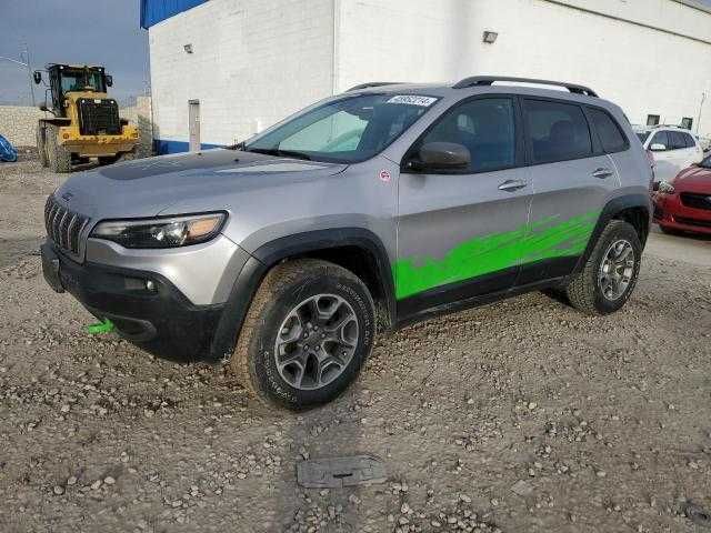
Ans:
POLYGON ((670 181, 683 169, 703 160, 701 144, 689 130, 660 125, 638 131, 637 137, 654 157, 654 181, 670 181))

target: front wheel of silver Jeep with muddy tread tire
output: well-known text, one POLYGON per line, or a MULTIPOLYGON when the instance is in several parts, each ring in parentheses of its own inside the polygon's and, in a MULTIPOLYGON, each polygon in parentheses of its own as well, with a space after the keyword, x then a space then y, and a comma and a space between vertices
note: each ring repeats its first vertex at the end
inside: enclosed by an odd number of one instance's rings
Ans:
POLYGON ((374 335, 373 300, 358 276, 326 261, 287 262, 274 266, 259 286, 230 369, 261 402, 300 411, 330 402, 348 388, 370 354, 374 335), (313 302, 331 318, 313 320, 313 302), (332 340, 336 333, 330 331, 338 322, 344 324, 340 338, 350 339, 351 348, 332 340), (283 364, 287 361, 292 362, 283 364))

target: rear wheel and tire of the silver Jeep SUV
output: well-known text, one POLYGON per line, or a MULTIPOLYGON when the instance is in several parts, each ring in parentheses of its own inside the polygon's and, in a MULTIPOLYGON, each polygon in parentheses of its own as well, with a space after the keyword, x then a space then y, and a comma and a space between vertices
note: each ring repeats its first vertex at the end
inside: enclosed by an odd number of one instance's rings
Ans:
POLYGON ((600 234, 582 271, 565 289, 571 305, 589 314, 609 314, 621 309, 637 284, 641 257, 642 244, 634 228, 621 220, 612 220, 600 234), (633 264, 629 264, 630 250, 633 264), (620 255, 615 257, 618 251, 620 255), (604 262, 608 260, 613 261, 608 262, 605 273, 604 262), (615 284, 615 279, 619 284, 615 284))

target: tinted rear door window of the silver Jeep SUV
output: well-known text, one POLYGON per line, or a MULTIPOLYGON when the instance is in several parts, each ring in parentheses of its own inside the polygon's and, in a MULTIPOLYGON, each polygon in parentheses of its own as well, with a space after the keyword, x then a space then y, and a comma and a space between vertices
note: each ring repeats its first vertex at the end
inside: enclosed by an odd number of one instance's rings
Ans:
POLYGON ((533 163, 592 155, 590 129, 580 105, 525 99, 523 113, 533 163))

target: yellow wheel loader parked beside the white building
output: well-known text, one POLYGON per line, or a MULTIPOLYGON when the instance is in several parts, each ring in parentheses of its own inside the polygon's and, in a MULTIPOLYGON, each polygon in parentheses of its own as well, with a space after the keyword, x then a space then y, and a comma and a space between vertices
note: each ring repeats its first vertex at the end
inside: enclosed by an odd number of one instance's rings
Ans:
MULTIPOLYGON (((71 165, 98 158, 100 164, 133 159, 139 141, 138 128, 119 118, 119 104, 107 94, 113 84, 103 67, 48 64, 51 94, 40 105, 53 117, 40 119, 37 150, 42 167, 53 172, 71 172, 71 165)), ((42 72, 33 74, 42 82, 42 72)))

